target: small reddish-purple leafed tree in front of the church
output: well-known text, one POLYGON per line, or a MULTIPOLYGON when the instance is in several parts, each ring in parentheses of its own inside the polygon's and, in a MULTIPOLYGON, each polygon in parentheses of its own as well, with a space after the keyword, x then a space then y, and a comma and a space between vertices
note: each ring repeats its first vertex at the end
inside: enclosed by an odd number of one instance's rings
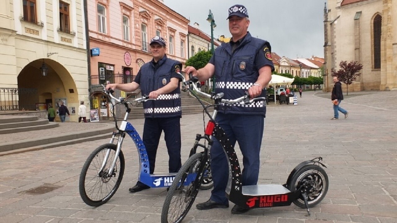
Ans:
POLYGON ((341 67, 341 69, 338 71, 335 71, 334 69, 331 70, 332 76, 338 77, 339 81, 346 84, 346 94, 349 95, 349 85, 351 85, 351 83, 361 75, 358 71, 362 69, 362 64, 357 61, 347 63, 347 61, 342 60, 339 63, 339 67, 341 67))

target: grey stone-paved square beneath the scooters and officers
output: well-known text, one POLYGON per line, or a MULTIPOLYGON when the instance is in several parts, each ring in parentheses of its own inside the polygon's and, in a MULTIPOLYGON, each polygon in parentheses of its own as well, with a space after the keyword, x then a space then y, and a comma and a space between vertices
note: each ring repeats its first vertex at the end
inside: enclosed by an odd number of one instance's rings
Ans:
MULTIPOLYGON (((330 187, 312 216, 295 205, 250 210, 232 215, 230 209, 198 211, 210 190, 200 191, 185 223, 395 223, 397 222, 397 90, 351 92, 341 103, 349 117, 331 121, 330 94, 303 92, 297 106, 269 106, 261 151, 259 184, 285 183, 301 161, 324 158, 330 187)), ((143 119, 132 121, 141 133, 143 119)), ((182 159, 187 159, 196 133, 202 133, 200 114, 185 115, 182 159)), ((83 125, 83 124, 81 124, 83 125)), ((81 200, 78 179, 97 140, 0 158, 0 222, 4 223, 158 223, 166 190, 135 194, 139 163, 131 140, 125 140, 126 171, 106 204, 93 208, 81 200), (58 189, 39 195, 23 191, 43 185, 58 189)), ((168 169, 160 142, 156 170, 168 169)), ((241 160, 241 156, 240 160, 241 160)), ((232 206, 232 205, 231 205, 232 206)))

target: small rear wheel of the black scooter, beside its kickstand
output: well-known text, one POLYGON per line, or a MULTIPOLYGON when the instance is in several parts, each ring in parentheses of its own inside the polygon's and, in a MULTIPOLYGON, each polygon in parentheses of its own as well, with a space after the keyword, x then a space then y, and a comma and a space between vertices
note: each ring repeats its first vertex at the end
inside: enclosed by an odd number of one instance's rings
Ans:
MULTIPOLYGON (((289 186, 291 191, 306 190, 308 208, 312 208, 320 203, 327 194, 328 175, 318 165, 306 165, 293 175, 289 186)), ((299 196, 293 203, 298 207, 306 208, 303 195, 299 196)))

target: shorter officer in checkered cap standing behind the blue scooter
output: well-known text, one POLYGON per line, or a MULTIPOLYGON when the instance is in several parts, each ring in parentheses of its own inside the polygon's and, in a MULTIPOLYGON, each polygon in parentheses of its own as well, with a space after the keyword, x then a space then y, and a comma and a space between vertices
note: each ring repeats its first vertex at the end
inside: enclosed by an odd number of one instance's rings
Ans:
MULTIPOLYGON (((181 168, 181 81, 176 71, 180 71, 182 64, 166 56, 166 41, 161 37, 150 40, 150 52, 153 59, 145 63, 139 70, 132 83, 109 84, 106 89, 119 89, 131 92, 141 88, 142 95, 156 100, 143 102, 145 125, 143 128, 143 143, 146 147, 150 163, 150 174, 154 172, 156 152, 160 135, 164 131, 168 154, 170 156, 168 168, 170 173, 176 173, 181 168)), ((150 188, 151 185, 137 181, 129 188, 130 192, 138 192, 150 188)))

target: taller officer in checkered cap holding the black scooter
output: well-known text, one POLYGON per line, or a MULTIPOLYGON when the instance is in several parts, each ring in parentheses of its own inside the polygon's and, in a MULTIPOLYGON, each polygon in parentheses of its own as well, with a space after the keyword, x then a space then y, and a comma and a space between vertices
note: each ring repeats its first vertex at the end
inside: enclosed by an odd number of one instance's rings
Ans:
MULTIPOLYGON (((246 91, 251 98, 265 97, 266 90, 263 89, 272 79, 274 71, 270 44, 247 32, 250 24, 247 8, 234 5, 228 12, 231 41, 216 48, 205 67, 199 70, 186 67, 185 72, 192 73, 199 81, 215 75, 215 92, 224 92, 224 99, 241 97, 246 91)), ((250 106, 225 106, 216 116, 216 121, 225 130, 231 144, 234 146, 236 141, 239 143, 243 154, 243 185, 256 185, 258 181, 265 113, 266 103, 256 102, 250 106)), ((197 204, 199 210, 229 207, 225 195, 229 177, 225 152, 218 141, 214 142, 210 152, 214 189, 208 201, 197 204)), ((248 210, 235 205, 231 213, 244 213, 248 210)))

